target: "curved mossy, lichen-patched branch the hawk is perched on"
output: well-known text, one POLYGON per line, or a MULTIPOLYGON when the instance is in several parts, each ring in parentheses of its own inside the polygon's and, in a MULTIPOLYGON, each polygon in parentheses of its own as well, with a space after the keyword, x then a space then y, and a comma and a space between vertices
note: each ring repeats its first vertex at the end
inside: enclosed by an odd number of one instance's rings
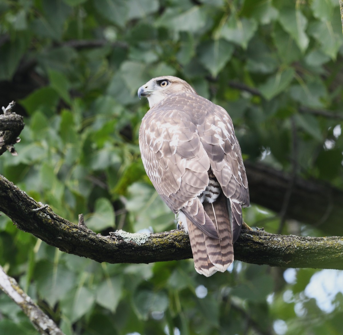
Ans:
MULTIPOLYGON (((108 263, 150 263, 192 257, 183 231, 102 236, 42 206, 0 175, 0 210, 21 230, 74 255, 108 263), (41 208, 42 207, 42 208, 41 208), (35 209, 41 208, 38 211, 35 209)), ((243 231, 235 259, 287 268, 343 269, 342 237, 298 237, 243 231)))

